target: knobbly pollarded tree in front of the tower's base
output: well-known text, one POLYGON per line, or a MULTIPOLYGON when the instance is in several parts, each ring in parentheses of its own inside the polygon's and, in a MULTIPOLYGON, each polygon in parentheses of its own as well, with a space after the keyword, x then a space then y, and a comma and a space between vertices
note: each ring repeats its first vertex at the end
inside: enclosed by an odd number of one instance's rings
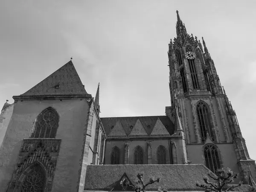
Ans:
POLYGON ((230 169, 217 169, 216 170, 216 176, 211 175, 210 173, 208 174, 209 177, 211 177, 214 182, 209 182, 208 177, 204 177, 204 183, 205 184, 199 184, 196 183, 196 186, 201 187, 206 189, 206 191, 215 191, 215 192, 223 192, 223 188, 227 188, 225 192, 229 191, 230 189, 234 189, 238 186, 241 186, 243 183, 242 181, 239 181, 239 184, 237 185, 232 185, 232 186, 227 186, 227 184, 231 183, 234 181, 234 179, 238 178, 238 173, 235 173, 230 169))

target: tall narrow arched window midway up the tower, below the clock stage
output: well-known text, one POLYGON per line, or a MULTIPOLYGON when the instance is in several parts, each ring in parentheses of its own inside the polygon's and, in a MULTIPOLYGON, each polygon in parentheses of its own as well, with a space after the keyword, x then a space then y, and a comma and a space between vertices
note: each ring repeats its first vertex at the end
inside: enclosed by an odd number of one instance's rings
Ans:
POLYGON ((207 105, 204 102, 198 102, 196 106, 198 121, 201 131, 201 137, 204 140, 207 137, 207 133, 213 138, 212 127, 211 127, 211 117, 208 111, 207 105))

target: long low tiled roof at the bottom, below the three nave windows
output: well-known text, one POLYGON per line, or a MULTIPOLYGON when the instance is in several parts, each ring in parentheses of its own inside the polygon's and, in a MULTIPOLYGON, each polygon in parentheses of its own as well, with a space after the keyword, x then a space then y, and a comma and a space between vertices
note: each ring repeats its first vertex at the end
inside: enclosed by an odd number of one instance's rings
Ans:
MULTIPOLYGON (((147 186, 148 191, 157 191, 158 187, 168 191, 202 190, 196 183, 204 183, 204 176, 210 172, 204 165, 90 165, 87 166, 84 190, 111 191, 124 173, 134 184, 137 174, 143 174, 143 180, 148 182, 152 177, 160 177, 159 183, 147 186), (186 190, 185 190, 186 189, 186 190)), ((212 182, 212 180, 210 180, 212 182)))

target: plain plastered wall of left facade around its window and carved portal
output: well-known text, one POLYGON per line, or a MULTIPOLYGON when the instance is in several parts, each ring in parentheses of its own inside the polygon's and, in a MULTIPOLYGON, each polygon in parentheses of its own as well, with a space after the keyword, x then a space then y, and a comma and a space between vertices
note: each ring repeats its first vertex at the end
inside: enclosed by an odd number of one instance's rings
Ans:
POLYGON ((54 108, 59 115, 56 139, 61 139, 52 191, 76 191, 83 150, 82 133, 87 125, 89 109, 86 99, 41 102, 24 100, 14 103, 12 119, 0 148, 0 189, 2 191, 6 191, 12 179, 23 139, 30 137, 36 117, 48 107, 54 108))

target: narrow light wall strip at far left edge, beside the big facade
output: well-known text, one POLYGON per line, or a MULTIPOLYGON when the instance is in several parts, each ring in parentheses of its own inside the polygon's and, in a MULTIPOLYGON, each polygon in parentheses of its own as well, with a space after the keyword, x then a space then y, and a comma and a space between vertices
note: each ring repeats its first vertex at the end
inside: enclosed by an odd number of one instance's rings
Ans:
POLYGON ((0 147, 3 143, 3 138, 6 134, 7 127, 12 117, 13 104, 4 108, 0 113, 0 147))

